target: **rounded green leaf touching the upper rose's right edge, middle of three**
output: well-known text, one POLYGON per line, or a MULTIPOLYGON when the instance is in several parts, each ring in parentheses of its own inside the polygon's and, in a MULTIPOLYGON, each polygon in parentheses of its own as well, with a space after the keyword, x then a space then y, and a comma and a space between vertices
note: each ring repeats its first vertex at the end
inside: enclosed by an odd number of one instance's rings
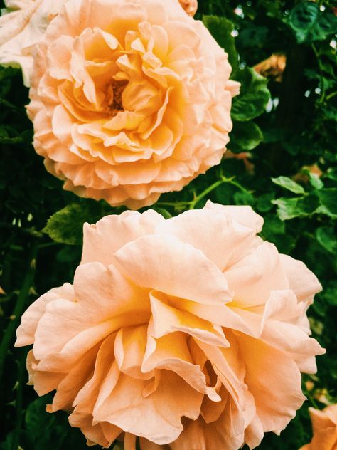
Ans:
POLYGON ((233 78, 240 81, 240 95, 233 98, 232 120, 245 122, 264 112, 270 98, 268 80, 252 68, 238 70, 233 78))

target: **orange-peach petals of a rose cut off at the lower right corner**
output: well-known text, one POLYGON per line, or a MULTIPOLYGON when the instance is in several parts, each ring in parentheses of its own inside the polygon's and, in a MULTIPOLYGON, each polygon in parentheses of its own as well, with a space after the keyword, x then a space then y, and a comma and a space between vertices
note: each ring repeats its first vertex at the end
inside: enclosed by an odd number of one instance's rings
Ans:
POLYGON ((337 404, 319 411, 309 408, 314 437, 310 444, 300 450, 336 450, 337 449, 337 404))

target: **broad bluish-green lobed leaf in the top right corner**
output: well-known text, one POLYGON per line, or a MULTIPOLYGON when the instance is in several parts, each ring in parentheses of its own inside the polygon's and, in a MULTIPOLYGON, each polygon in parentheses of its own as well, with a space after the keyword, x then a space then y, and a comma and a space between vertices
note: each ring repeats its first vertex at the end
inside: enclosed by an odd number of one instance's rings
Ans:
POLYGON ((336 33, 337 17, 326 7, 320 10, 314 1, 300 1, 289 14, 287 21, 294 30, 298 43, 322 41, 336 33))

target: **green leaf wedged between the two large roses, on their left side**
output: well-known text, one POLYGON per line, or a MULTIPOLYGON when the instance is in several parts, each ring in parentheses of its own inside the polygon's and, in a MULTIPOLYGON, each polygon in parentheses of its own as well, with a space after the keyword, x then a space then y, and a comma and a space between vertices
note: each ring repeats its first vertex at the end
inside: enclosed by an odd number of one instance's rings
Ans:
POLYGON ((95 223, 105 215, 105 206, 99 202, 72 203, 51 216, 43 233, 62 244, 82 244, 82 228, 85 222, 95 223))

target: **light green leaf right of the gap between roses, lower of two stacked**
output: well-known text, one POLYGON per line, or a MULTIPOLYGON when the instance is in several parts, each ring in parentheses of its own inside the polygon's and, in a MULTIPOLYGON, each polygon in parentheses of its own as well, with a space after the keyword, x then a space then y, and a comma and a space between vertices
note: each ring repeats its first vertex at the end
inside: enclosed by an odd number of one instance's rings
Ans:
POLYGON ((277 205, 277 216, 281 220, 294 219, 295 217, 309 216, 316 212, 319 206, 319 199, 311 194, 307 197, 295 197, 286 199, 284 197, 272 200, 272 204, 277 205))

